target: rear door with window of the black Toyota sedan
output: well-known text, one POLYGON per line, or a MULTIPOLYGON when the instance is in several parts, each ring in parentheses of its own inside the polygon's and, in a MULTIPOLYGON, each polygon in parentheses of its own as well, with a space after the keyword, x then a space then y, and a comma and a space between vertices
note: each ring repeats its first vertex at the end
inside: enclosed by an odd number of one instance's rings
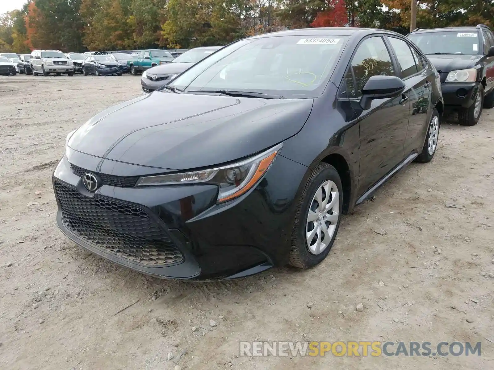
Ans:
POLYGON ((410 119, 404 142, 405 155, 422 148, 427 123, 431 116, 432 82, 434 70, 424 68, 420 53, 408 40, 388 36, 388 41, 395 53, 399 73, 405 82, 405 96, 408 98, 410 119))

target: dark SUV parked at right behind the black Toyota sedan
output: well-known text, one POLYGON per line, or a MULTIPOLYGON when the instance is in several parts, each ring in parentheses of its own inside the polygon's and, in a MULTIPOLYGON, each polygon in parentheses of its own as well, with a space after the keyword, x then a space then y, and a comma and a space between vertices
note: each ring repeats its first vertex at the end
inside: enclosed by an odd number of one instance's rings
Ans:
POLYGON ((494 108, 494 35, 489 27, 412 31, 410 38, 441 74, 445 109, 464 126, 477 124, 482 108, 494 108))

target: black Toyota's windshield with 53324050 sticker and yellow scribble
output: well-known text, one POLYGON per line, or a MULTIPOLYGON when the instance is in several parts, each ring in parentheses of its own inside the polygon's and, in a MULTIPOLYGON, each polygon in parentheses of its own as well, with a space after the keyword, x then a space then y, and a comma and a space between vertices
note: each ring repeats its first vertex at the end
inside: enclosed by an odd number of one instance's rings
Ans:
POLYGON ((328 35, 244 39, 194 65, 170 86, 185 91, 249 91, 291 99, 317 97, 347 39, 328 35))

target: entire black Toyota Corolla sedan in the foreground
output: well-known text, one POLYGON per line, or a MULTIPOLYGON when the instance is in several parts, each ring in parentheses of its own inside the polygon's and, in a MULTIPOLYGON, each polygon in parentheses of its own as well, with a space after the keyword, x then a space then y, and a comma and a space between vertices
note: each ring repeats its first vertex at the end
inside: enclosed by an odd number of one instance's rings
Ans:
POLYGON ((163 278, 308 268, 342 214, 432 159, 442 111, 436 70, 399 34, 245 38, 71 132, 53 173, 57 223, 163 278))

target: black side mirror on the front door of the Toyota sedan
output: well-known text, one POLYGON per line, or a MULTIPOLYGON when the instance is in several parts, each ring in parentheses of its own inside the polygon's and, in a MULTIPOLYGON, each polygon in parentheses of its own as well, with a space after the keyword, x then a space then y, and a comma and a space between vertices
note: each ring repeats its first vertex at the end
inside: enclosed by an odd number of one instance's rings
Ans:
POLYGON ((396 76, 371 76, 362 88, 360 106, 363 110, 371 108, 374 99, 394 98, 405 90, 405 82, 396 76))

